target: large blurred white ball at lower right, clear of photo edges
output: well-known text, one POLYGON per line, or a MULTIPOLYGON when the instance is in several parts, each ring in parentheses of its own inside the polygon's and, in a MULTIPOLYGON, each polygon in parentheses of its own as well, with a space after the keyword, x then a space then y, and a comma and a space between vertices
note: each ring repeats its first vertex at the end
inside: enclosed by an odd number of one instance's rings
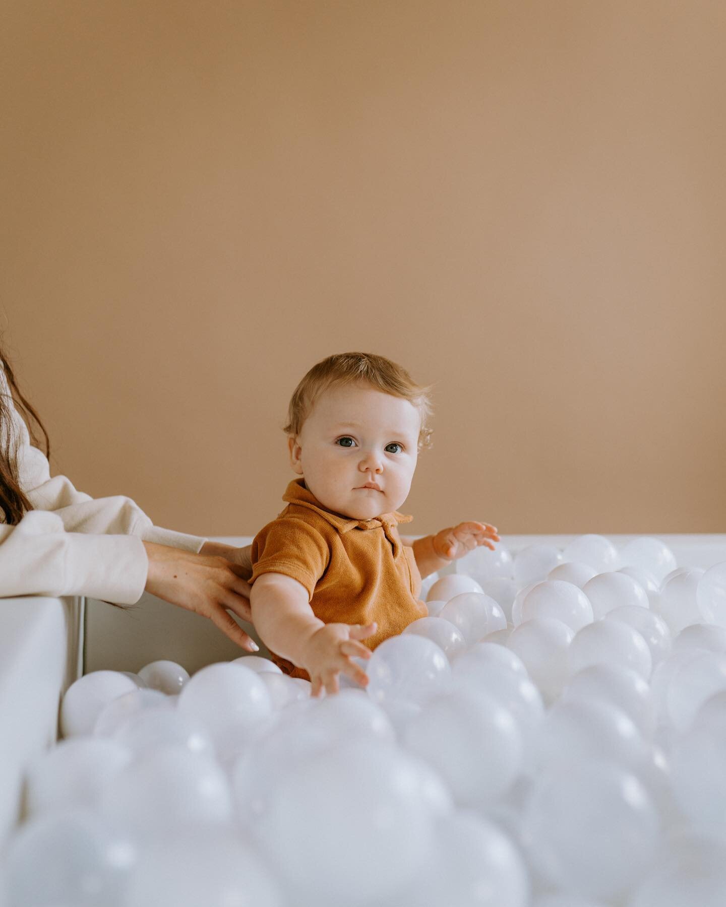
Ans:
POLYGON ((628 891, 652 862, 658 834, 658 815, 641 782, 605 762, 538 779, 525 813, 538 866, 552 883, 584 897, 628 891))

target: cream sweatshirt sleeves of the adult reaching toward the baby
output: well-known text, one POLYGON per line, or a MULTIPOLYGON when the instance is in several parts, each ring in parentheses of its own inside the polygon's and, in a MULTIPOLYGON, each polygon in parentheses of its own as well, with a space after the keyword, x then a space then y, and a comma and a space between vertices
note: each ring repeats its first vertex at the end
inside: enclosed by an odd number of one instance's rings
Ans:
MULTIPOLYGON (((2 368, 0 393, 10 399, 2 368)), ((200 551, 205 539, 154 526, 130 498, 93 499, 64 475, 51 478, 15 408, 9 427, 20 485, 35 509, 17 526, 0 524, 0 597, 85 595, 131 604, 146 584, 142 541, 200 551)))

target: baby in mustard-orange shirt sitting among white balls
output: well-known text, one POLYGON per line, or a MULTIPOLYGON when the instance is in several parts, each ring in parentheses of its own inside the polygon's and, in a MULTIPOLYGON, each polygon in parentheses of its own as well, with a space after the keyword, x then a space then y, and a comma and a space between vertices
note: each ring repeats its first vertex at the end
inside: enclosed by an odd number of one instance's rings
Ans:
POLYGON ((368 353, 329 356, 292 395, 285 432, 299 478, 252 542, 250 602, 260 638, 313 696, 338 692, 340 673, 366 686, 354 659, 427 615, 421 578, 499 541, 482 522, 399 536, 429 414, 427 388, 368 353))

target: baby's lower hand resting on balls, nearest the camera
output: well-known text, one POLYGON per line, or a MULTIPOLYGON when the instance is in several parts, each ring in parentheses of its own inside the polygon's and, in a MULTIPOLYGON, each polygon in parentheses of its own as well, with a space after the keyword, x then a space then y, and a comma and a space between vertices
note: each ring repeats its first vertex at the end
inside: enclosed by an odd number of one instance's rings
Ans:
POLYGON ((368 639, 376 632, 376 624, 326 624, 317 629, 303 650, 301 668, 309 673, 311 696, 338 692, 338 674, 347 674, 361 687, 368 684, 368 675, 352 658, 370 658, 367 649, 358 639, 368 639))

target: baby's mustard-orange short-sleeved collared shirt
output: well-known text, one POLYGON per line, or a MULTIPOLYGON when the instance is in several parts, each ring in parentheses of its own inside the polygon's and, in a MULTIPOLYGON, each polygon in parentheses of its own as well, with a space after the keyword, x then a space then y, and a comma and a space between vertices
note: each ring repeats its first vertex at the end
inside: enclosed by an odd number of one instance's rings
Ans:
MULTIPOLYGON (((397 529, 412 517, 398 512, 373 520, 340 516, 323 507, 304 479, 290 482, 282 500, 288 506, 252 541, 250 584, 262 573, 284 573, 308 590, 310 607, 324 623, 375 620, 375 636, 363 640, 368 649, 426 617, 427 607, 418 600, 421 574, 414 552, 397 529)), ((301 668, 274 657, 286 673, 307 678, 301 668)))

